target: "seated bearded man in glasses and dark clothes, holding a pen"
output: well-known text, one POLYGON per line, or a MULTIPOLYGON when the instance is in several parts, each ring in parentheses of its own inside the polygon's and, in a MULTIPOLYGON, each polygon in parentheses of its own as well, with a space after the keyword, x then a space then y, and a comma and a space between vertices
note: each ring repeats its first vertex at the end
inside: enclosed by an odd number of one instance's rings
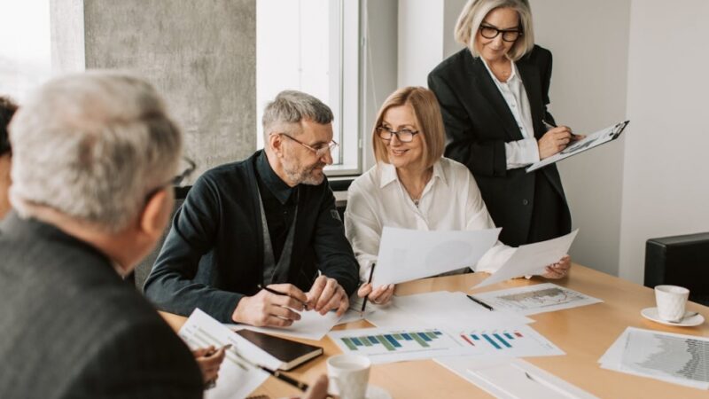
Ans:
POLYGON ((347 310, 359 284, 323 168, 332 112, 300 91, 263 115, 265 149, 207 171, 175 215, 145 282, 160 308, 224 323, 284 327, 300 311, 347 310))

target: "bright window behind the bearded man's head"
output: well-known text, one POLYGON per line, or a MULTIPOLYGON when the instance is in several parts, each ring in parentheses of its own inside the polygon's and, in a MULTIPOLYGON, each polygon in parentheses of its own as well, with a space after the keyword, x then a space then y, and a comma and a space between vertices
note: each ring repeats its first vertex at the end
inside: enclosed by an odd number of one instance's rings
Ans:
POLYGON ((359 2, 259 0, 256 3, 257 145, 263 107, 281 90, 312 94, 331 107, 334 139, 329 176, 361 172, 359 2))

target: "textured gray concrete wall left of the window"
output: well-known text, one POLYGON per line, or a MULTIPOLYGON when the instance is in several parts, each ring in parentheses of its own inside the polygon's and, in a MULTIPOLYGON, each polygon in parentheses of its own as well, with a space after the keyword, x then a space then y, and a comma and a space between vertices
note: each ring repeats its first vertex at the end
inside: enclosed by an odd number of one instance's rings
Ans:
POLYGON ((199 173, 253 153, 256 0, 83 4, 87 69, 127 69, 152 82, 199 173))

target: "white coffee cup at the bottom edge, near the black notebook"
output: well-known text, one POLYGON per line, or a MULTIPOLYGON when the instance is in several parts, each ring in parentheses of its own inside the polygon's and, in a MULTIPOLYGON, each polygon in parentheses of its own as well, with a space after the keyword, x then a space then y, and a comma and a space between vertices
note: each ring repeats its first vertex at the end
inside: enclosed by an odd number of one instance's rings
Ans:
POLYGON ((371 361, 357 355, 338 355, 327 359, 331 392, 341 399, 364 399, 370 380, 371 361))

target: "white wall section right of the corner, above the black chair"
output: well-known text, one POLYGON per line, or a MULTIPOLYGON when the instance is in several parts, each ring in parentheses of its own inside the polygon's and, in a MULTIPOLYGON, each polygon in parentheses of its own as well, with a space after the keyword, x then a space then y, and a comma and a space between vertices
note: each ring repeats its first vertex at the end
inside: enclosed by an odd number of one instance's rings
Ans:
POLYGON ((619 276, 643 280, 646 239, 709 231, 709 2, 634 0, 619 276))

